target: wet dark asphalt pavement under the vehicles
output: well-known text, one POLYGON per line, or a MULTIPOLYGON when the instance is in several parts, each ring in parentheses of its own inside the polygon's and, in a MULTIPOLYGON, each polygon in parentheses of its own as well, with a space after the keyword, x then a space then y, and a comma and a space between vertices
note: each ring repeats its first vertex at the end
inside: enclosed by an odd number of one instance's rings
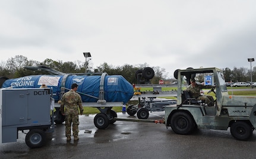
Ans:
MULTIPOLYGON (((162 119, 164 112, 148 119, 162 119)), ((127 113, 118 118, 137 119, 127 113)), ((67 142, 64 124, 48 134, 42 148, 29 148, 25 134, 17 142, 0 144, 0 158, 256 158, 256 132, 249 141, 234 139, 229 130, 197 130, 191 135, 175 134, 165 124, 116 121, 97 129, 94 116, 80 116, 79 141, 67 142)))

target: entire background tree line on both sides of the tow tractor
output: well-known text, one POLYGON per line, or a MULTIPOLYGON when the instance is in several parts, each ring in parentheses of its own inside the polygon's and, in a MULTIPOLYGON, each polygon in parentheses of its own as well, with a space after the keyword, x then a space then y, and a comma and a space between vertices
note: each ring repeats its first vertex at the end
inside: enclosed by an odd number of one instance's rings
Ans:
MULTIPOLYGON (((109 75, 122 75, 127 79, 130 83, 137 83, 137 78, 135 77, 135 72, 139 69, 143 69, 144 67, 150 67, 147 63, 137 64, 133 66, 131 64, 124 64, 123 66, 113 67, 108 63, 100 64, 96 69, 93 69, 90 66, 90 63, 82 62, 82 61, 67 61, 63 62, 61 60, 52 60, 45 59, 44 61, 34 61, 29 60, 27 57, 18 55, 15 57, 11 57, 7 61, 2 61, 0 63, 0 76, 7 77, 8 79, 13 79, 17 77, 29 76, 34 74, 42 74, 43 72, 34 72, 33 70, 25 69, 24 66, 48 66, 52 69, 58 70, 63 73, 85 73, 86 72, 86 64, 87 64, 87 72, 92 73, 103 73, 106 72, 109 75)), ((154 77, 150 80, 151 83, 156 84, 159 80, 169 80, 170 82, 175 81, 175 79, 166 79, 167 74, 165 69, 159 66, 151 67, 154 70, 154 77)), ((229 68, 222 69, 225 75, 226 82, 247 82, 251 81, 251 70, 245 67, 233 67, 233 70, 229 68)), ((43 73, 46 74, 46 73, 43 73)), ((252 79, 256 80, 256 67, 252 69, 252 79)), ((254 81, 255 81, 254 80, 254 81)))

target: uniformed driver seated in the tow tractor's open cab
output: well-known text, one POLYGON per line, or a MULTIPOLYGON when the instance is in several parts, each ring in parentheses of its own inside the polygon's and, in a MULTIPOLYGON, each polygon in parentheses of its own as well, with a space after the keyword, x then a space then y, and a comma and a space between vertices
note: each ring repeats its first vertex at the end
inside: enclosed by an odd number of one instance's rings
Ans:
POLYGON ((214 99, 213 96, 209 95, 201 95, 200 90, 202 88, 214 88, 215 86, 205 86, 203 85, 197 85, 195 83, 195 79, 190 79, 191 85, 187 87, 187 91, 191 98, 196 98, 197 100, 203 100, 204 103, 207 103, 208 106, 214 106, 214 99))

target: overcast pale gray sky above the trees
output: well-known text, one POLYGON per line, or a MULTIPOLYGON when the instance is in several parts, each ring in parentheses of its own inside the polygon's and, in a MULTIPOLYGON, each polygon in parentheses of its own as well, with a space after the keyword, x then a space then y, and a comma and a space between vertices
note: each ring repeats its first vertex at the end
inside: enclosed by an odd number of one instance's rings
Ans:
POLYGON ((168 77, 187 67, 249 69, 255 7, 255 0, 0 0, 1 60, 85 61, 90 52, 93 67, 147 63, 168 77))

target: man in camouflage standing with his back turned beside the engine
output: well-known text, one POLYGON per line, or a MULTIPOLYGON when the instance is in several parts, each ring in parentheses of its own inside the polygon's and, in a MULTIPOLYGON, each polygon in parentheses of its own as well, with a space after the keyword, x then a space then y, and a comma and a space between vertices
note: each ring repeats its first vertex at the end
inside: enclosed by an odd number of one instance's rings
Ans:
POLYGON ((72 132, 74 136, 74 141, 77 141, 78 138, 78 107, 80 109, 80 115, 83 115, 83 106, 81 96, 76 92, 78 85, 73 83, 71 86, 71 90, 66 92, 59 103, 61 103, 60 111, 62 115, 65 115, 65 126, 66 126, 66 137, 67 141, 71 140, 71 124, 72 124, 72 132), (64 105, 65 105, 65 113, 64 113, 64 105))

